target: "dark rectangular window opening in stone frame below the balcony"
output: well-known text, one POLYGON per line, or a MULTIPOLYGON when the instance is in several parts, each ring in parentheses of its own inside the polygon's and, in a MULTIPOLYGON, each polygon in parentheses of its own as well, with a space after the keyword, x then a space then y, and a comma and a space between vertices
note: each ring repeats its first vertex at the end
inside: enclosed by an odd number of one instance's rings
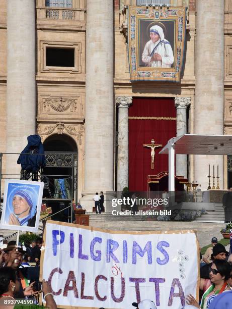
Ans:
POLYGON ((47 67, 74 67, 74 48, 46 48, 47 67))

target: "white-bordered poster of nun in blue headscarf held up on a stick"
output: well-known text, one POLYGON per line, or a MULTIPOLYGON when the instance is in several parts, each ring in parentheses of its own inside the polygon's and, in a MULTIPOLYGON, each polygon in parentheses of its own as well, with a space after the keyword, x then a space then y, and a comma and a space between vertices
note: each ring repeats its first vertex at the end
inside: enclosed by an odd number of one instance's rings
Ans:
POLYGON ((0 227, 37 232, 43 185, 43 182, 6 179, 0 227))

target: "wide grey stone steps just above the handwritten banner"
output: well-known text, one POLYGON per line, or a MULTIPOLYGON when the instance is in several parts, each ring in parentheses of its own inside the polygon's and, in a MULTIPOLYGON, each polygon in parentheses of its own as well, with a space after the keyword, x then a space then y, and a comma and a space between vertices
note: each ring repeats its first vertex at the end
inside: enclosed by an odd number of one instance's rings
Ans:
MULTIPOLYGON (((116 231, 170 231, 170 230, 189 230, 197 231, 200 246, 203 247, 210 243, 212 237, 222 238, 220 230, 224 225, 224 210, 221 206, 216 207, 215 212, 208 211, 193 222, 170 222, 170 221, 145 221, 143 216, 112 216, 111 214, 89 213, 90 226, 104 230, 116 231)), ((42 231, 41 223, 39 233, 42 231)), ((4 237, 14 234, 14 230, 0 230, 4 237)), ((9 238, 16 240, 17 234, 9 238)))

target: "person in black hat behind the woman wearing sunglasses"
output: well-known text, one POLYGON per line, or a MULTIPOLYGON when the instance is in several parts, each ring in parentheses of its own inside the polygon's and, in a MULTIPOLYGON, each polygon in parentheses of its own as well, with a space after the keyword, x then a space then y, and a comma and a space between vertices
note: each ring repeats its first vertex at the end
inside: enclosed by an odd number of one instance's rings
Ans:
POLYGON ((221 243, 215 244, 213 247, 213 253, 211 254, 212 263, 206 264, 200 268, 200 277, 202 279, 210 279, 209 273, 213 264, 213 260, 226 260, 228 254, 229 252, 225 250, 225 247, 221 243))

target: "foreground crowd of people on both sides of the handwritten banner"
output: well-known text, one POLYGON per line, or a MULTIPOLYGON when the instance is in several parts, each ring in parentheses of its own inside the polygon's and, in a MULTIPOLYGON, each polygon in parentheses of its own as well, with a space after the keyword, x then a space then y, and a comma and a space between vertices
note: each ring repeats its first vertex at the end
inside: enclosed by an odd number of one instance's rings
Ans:
MULTIPOLYGON (((6 242, 0 251, 0 309, 9 299, 25 299, 31 301, 31 308, 38 308, 41 293, 44 294, 46 306, 56 308, 48 282, 39 282, 42 238, 30 244, 19 244, 18 247, 16 241, 6 242), (35 266, 30 267, 31 263, 35 266)), ((232 308, 232 254, 213 237, 211 246, 200 259, 200 302, 189 294, 186 296, 186 304, 199 309, 232 308)), ((137 309, 157 309, 155 302, 150 299, 131 305, 137 309)), ((19 308, 18 305, 9 307, 19 308)))

